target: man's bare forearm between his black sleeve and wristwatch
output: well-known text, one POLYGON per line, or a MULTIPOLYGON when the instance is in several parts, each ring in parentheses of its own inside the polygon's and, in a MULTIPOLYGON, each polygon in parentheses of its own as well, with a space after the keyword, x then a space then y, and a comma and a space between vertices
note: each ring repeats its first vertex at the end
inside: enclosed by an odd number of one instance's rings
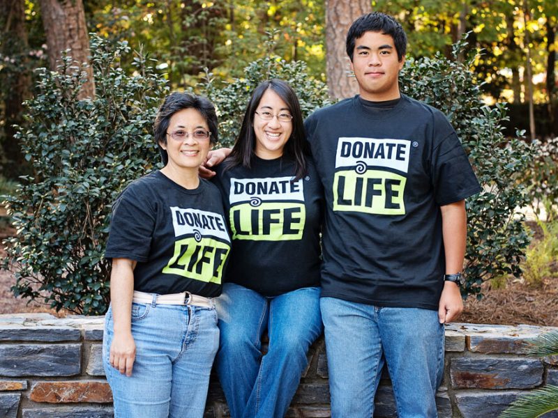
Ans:
POLYGON ((442 236, 446 254, 446 274, 455 274, 463 269, 467 244, 467 213, 465 201, 444 205, 442 210, 442 236))

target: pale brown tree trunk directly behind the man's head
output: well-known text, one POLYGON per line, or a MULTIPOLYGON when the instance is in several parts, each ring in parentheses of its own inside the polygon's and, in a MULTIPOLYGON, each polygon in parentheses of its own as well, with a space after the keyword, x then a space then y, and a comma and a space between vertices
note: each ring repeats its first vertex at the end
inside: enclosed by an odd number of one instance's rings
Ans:
POLYGON ((345 41, 352 22, 371 11, 370 0, 326 0, 327 86, 333 98, 349 98, 359 93, 356 79, 349 77, 351 70, 345 41))

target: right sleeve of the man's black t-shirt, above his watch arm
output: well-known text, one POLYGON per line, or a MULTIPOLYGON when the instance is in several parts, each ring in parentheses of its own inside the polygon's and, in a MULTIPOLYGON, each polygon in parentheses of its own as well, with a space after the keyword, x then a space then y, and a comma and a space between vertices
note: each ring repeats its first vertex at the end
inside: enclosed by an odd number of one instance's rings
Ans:
POLYGON ((453 130, 432 152, 430 172, 436 203, 455 203, 481 192, 469 158, 453 130))

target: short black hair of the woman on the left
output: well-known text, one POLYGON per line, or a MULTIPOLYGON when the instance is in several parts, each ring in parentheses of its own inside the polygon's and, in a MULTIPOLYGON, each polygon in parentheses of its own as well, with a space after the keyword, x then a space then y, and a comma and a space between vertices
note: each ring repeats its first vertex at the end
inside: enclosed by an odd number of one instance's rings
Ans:
POLYGON ((170 119, 172 115, 183 109, 196 109, 202 114, 209 127, 209 132, 211 132, 209 136, 211 144, 215 144, 219 139, 215 106, 213 106, 213 103, 208 98, 190 93, 170 93, 165 98, 163 104, 160 105, 155 118, 155 124, 153 125, 155 143, 159 148, 163 164, 165 165, 169 162, 169 156, 160 144, 167 145, 167 129, 169 129, 170 119))

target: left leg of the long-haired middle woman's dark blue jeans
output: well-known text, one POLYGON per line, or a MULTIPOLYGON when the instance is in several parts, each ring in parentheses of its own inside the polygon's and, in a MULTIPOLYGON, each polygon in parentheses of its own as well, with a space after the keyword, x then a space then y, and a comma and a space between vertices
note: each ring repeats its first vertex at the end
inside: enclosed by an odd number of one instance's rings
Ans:
POLYGON ((259 293, 232 283, 225 283, 215 302, 220 329, 216 369, 231 417, 239 418, 244 415, 259 371, 268 302, 259 293))

